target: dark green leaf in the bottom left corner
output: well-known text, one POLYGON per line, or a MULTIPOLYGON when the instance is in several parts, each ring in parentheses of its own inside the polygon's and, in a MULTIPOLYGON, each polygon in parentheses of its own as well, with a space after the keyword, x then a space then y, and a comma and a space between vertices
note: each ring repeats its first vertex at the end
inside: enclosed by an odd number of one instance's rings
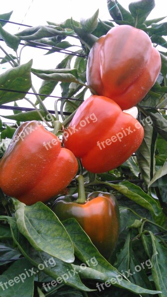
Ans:
POLYGON ((30 276, 28 277, 25 273, 25 270, 28 271, 29 269, 32 269, 31 263, 27 259, 20 259, 3 272, 0 277, 2 282, 0 297, 33 297, 34 274, 29 273, 30 276))

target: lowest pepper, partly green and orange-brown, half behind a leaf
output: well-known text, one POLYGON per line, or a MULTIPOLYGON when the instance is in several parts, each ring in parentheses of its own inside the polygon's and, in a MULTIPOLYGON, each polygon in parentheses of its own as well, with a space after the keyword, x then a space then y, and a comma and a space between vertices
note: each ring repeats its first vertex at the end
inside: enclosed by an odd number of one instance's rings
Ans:
POLYGON ((94 246, 108 259, 119 236, 120 214, 116 198, 104 192, 89 194, 85 204, 76 203, 77 198, 78 194, 58 198, 54 213, 61 221, 75 218, 94 246))

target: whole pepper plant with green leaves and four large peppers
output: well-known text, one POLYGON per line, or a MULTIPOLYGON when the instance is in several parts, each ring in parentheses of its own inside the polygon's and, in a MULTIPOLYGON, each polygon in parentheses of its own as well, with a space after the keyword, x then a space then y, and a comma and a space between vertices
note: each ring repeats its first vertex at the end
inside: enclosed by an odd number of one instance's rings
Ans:
POLYGON ((14 124, 0 120, 0 297, 167 296, 167 22, 147 19, 154 0, 103 1, 109 20, 96 11, 16 34, 0 14, 0 108, 14 102, 1 114, 14 124), (36 69, 21 63, 30 46, 68 52, 36 69), (137 119, 122 111, 134 105, 137 119))

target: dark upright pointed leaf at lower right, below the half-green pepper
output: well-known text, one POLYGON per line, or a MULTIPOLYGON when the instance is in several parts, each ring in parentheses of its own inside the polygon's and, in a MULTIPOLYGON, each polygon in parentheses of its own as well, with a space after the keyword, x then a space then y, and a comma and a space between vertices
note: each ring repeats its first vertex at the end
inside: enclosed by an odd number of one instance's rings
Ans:
POLYGON ((151 290, 152 289, 151 282, 149 281, 146 275, 146 272, 144 271, 144 269, 147 268, 147 266, 146 265, 141 266, 141 263, 137 260, 132 249, 130 234, 131 232, 129 232, 127 235, 124 247, 122 248, 120 253, 117 254, 118 260, 117 260, 116 268, 120 272, 123 272, 131 283, 151 290))

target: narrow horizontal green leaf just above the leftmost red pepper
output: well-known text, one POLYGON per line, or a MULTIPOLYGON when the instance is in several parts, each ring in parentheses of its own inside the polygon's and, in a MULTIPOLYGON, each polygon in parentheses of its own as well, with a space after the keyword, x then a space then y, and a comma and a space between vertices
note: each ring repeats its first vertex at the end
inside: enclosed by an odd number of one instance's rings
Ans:
MULTIPOLYGON (((44 118, 45 112, 42 109, 40 109, 39 111, 41 112, 41 114, 44 118)), ((20 121, 20 122, 33 121, 33 120, 41 121, 42 120, 36 110, 19 112, 17 114, 11 114, 11 115, 3 115, 3 117, 6 119, 20 121)))

